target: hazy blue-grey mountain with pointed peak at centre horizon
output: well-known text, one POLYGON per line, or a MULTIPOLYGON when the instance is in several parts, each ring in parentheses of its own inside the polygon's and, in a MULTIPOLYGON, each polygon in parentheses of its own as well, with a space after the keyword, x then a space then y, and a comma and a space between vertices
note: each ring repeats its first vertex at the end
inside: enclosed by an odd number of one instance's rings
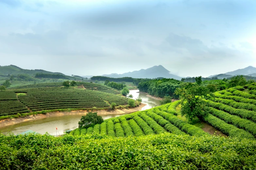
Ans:
POLYGON ((162 65, 158 66, 153 66, 151 68, 147 69, 141 69, 139 71, 133 71, 133 72, 128 72, 124 74, 117 74, 117 73, 112 73, 112 74, 104 74, 102 76, 105 77, 111 77, 111 78, 121 78, 121 77, 132 77, 132 78, 158 78, 158 77, 163 77, 163 78, 174 78, 180 80, 182 77, 176 76, 174 74, 170 74, 170 71, 165 69, 162 65))

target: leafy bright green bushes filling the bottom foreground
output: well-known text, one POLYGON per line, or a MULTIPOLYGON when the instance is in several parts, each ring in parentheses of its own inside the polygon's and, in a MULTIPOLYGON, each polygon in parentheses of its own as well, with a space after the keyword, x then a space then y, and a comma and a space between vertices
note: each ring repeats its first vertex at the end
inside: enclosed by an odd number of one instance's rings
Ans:
POLYGON ((0 169, 255 169, 256 142, 219 136, 0 135, 0 169))

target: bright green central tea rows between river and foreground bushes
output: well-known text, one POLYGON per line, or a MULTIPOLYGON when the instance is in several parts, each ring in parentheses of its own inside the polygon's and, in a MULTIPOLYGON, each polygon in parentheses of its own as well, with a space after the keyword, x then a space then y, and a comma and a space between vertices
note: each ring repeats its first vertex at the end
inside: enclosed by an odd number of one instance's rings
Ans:
POLYGON ((142 136, 161 134, 165 132, 170 132, 177 135, 184 135, 186 133, 196 136, 209 135, 200 128, 178 119, 174 114, 161 111, 166 108, 168 109, 169 107, 175 108, 179 102, 180 101, 176 101, 171 104, 158 106, 145 111, 139 111, 129 115, 107 119, 100 125, 97 124, 90 128, 93 128, 94 133, 98 133, 98 131, 95 131, 94 128, 95 126, 100 126, 99 134, 106 134, 116 137, 127 137, 134 135, 142 136))

